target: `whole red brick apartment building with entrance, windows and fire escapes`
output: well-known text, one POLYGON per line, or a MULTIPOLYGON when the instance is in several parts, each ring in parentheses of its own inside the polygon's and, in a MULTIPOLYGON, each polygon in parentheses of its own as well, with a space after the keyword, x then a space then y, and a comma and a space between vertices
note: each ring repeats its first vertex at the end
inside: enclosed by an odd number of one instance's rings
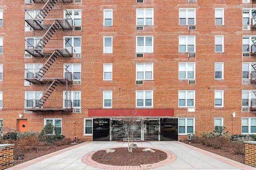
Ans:
POLYGON ((254 0, 3 0, 0 125, 120 140, 136 113, 140 140, 256 133, 255 16, 254 0))

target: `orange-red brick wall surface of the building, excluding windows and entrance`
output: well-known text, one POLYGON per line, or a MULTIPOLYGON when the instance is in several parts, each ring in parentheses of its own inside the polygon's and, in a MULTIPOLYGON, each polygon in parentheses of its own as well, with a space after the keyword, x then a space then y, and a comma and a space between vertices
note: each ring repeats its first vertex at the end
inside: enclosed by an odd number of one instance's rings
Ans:
MULTIPOLYGON (((24 0, 1 1, 3 26, 3 80, 0 91, 3 92, 3 108, 0 119, 3 127, 18 130, 18 119, 28 120, 28 131, 41 131, 44 118, 62 118, 62 134, 68 138, 92 140, 84 135, 84 118, 88 109, 102 109, 103 91, 112 90, 113 109, 136 108, 136 90, 153 90, 154 109, 174 109, 174 117, 193 117, 195 131, 214 130, 214 118, 222 117, 223 125, 230 134, 241 134, 242 117, 256 117, 256 113, 242 112, 242 90, 255 89, 250 84, 242 84, 242 62, 256 62, 254 57, 242 57, 242 36, 255 35, 256 29, 242 30, 242 8, 256 8, 256 4, 238 1, 197 0, 82 0, 81 4, 58 1, 53 9, 82 10, 82 30, 58 29, 45 48, 63 48, 63 36, 80 36, 82 41, 81 58, 58 57, 46 77, 63 77, 65 63, 82 65, 81 85, 72 85, 72 91, 81 91, 81 113, 63 113, 61 111, 43 111, 24 113, 25 91, 43 91, 49 84, 24 86, 24 65, 44 63, 47 58, 32 57, 24 59, 25 37, 44 35, 46 30, 24 31, 25 9, 41 9, 44 3, 24 4, 24 0), (154 25, 136 30, 136 9, 153 8, 154 25), (188 30, 187 25, 179 25, 179 8, 196 9, 196 30, 188 30), (214 24, 215 8, 224 8, 224 25, 214 24), (103 10, 113 9, 113 26, 103 26, 103 10), (23 12, 22 12, 23 11, 23 12), (16 16, 16 17, 14 17, 16 16), (196 37, 196 57, 188 53, 179 53, 179 36, 196 37), (215 53, 214 36, 224 36, 224 53, 215 53), (103 37, 112 36, 113 52, 103 53, 103 37), (153 36, 154 53, 144 53, 136 57, 136 36, 153 36), (55 39, 55 40, 54 40, 55 39), (224 63, 224 79, 214 79, 214 63, 224 63), (112 63, 111 81, 103 80, 103 64, 112 63), (144 80, 136 85, 136 63, 153 63, 154 80, 144 80), (196 84, 188 80, 179 80, 179 63, 196 64, 196 84), (195 90, 195 111, 178 107, 178 90, 195 90), (224 90, 224 107, 214 107, 214 90, 224 90), (236 117, 232 117, 232 113, 236 117), (22 118, 19 115, 22 114, 22 118), (75 123, 73 123, 75 122, 75 123)), ((63 18, 63 13, 49 12, 47 18, 63 18)), ((62 107, 65 85, 54 90, 46 106, 62 107)), ((187 139, 186 135, 179 138, 187 139)))

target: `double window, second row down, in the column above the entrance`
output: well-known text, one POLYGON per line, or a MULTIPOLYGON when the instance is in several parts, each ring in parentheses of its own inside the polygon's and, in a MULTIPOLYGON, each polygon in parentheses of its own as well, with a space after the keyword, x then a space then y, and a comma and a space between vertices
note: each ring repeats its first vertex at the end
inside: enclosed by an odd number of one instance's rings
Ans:
POLYGON ((153 53, 153 37, 145 36, 136 38, 136 53, 153 53))

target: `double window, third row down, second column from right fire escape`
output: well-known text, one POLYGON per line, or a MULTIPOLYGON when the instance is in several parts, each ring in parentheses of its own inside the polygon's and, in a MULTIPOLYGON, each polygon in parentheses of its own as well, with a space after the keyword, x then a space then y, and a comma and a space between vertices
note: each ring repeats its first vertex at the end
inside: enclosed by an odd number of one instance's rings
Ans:
POLYGON ((179 63, 179 80, 195 79, 195 63, 179 63))

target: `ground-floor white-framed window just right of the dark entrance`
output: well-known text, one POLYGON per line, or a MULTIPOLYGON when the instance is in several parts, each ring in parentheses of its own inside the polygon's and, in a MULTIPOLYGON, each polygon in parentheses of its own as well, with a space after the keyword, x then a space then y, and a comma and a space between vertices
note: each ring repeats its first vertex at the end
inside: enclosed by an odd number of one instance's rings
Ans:
POLYGON ((178 134, 187 135, 195 131, 195 118, 179 118, 178 134))

